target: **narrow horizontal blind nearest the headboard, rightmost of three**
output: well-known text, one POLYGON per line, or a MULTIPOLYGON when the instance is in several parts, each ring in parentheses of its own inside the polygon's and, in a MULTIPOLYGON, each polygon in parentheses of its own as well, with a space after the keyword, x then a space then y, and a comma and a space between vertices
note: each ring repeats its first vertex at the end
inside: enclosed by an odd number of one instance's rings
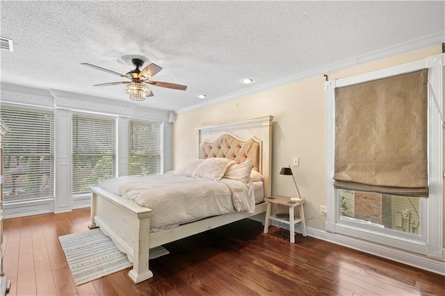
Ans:
POLYGON ((161 173, 161 124, 129 122, 129 174, 161 173))

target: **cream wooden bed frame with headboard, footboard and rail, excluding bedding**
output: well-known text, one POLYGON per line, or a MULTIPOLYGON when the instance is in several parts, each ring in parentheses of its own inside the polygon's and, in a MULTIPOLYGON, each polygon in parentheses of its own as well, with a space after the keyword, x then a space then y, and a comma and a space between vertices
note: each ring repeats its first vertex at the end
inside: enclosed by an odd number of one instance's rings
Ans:
MULTIPOLYGON (((266 116, 195 129, 196 156, 229 158, 236 163, 252 161, 252 170, 264 178, 264 198, 270 197, 272 121, 272 116, 266 116)), ((127 254, 133 263, 129 277, 135 283, 153 277, 149 270, 149 249, 266 212, 266 202, 257 201, 252 211, 206 217, 153 231, 150 220, 155 213, 152 209, 99 186, 91 186, 90 190, 92 203, 88 227, 100 227, 127 254)))

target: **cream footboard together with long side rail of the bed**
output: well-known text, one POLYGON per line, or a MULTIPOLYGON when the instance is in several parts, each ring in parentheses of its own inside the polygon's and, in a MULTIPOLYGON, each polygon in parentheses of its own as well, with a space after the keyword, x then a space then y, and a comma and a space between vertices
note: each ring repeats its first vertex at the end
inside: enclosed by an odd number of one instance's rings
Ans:
POLYGON ((254 213, 231 213, 209 217, 172 229, 150 233, 152 210, 115 195, 100 187, 92 191, 91 220, 88 227, 100 227, 133 263, 129 277, 140 283, 153 277, 149 270, 149 248, 157 247, 181 238, 207 231, 225 224, 242 220, 266 211, 266 202, 257 204, 254 213))

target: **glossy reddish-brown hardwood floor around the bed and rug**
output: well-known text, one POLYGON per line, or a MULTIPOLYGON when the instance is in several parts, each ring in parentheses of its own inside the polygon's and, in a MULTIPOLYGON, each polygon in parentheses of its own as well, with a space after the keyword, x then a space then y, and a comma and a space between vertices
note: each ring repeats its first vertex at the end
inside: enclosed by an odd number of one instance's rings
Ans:
POLYGON ((75 286, 58 236, 88 231, 89 208, 6 219, 8 295, 445 295, 445 277, 243 220, 171 242, 152 279, 127 270, 75 286))

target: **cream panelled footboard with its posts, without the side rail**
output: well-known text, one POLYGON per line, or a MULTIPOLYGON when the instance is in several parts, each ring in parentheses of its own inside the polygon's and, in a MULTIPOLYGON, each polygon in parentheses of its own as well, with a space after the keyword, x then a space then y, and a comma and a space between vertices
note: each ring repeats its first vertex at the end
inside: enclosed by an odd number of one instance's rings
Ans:
POLYGON ((133 263, 129 277, 135 282, 153 277, 149 270, 149 229, 152 210, 92 186, 90 229, 100 227, 133 263))

